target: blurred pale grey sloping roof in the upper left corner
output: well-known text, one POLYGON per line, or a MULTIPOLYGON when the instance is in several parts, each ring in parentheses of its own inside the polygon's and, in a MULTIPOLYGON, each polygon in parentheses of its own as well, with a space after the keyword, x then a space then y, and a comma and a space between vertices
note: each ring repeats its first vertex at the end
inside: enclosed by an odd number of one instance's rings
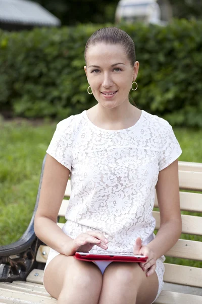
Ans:
POLYGON ((5 30, 60 26, 60 20, 36 2, 0 0, 0 28, 5 30))

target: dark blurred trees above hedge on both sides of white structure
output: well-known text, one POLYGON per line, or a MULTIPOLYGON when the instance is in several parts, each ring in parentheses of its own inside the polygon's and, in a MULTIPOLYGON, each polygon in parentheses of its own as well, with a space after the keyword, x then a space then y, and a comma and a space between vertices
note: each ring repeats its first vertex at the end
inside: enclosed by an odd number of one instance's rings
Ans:
MULTIPOLYGON (((115 22, 119 0, 35 0, 57 16, 62 25, 115 22)), ((175 18, 202 18, 201 0, 169 0, 175 18)))

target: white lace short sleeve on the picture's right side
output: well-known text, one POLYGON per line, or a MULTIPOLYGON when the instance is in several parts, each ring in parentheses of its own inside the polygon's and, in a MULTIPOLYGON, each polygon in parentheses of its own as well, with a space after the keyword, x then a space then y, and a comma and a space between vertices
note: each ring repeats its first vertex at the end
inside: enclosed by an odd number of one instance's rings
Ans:
POLYGON ((170 124, 164 129, 160 145, 159 171, 172 164, 182 154, 182 149, 170 124))

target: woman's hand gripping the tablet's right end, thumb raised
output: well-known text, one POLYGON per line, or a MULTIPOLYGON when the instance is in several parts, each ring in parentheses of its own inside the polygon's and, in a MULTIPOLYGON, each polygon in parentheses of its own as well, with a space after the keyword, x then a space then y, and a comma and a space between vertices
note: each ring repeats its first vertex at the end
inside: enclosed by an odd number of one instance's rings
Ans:
POLYGON ((139 265, 142 268, 142 270, 146 272, 147 277, 154 274, 155 269, 156 269, 155 254, 148 246, 142 245, 141 238, 136 239, 134 247, 133 247, 133 253, 148 256, 147 261, 141 262, 141 263, 139 263, 139 265))

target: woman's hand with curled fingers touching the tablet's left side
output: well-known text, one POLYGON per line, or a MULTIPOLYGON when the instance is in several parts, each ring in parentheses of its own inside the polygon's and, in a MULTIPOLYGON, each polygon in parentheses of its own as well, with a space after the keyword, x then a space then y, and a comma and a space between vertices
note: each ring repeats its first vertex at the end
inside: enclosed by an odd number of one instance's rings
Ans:
POLYGON ((94 245, 100 248, 108 248, 108 240, 106 237, 98 231, 86 231, 81 233, 73 240, 73 254, 76 251, 88 252, 94 245))

